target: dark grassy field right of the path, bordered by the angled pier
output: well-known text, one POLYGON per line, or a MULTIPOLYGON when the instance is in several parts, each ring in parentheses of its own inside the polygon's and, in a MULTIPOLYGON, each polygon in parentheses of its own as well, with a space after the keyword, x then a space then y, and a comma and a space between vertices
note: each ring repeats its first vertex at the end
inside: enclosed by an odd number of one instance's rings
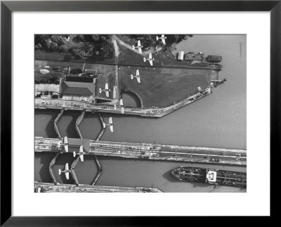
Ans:
POLYGON ((130 90, 143 100, 143 106, 164 107, 197 91, 197 87, 207 88, 209 70, 206 69, 169 69, 153 67, 119 67, 122 77, 122 90, 130 90), (139 69, 141 83, 131 74, 139 69))

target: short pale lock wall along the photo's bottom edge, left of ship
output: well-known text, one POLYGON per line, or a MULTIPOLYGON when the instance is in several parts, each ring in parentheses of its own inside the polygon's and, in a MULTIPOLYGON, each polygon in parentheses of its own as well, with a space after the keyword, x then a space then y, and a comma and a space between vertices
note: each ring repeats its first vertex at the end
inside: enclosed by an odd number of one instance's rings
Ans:
POLYGON ((157 188, 92 186, 88 184, 53 184, 34 182, 34 192, 37 193, 162 193, 157 188))

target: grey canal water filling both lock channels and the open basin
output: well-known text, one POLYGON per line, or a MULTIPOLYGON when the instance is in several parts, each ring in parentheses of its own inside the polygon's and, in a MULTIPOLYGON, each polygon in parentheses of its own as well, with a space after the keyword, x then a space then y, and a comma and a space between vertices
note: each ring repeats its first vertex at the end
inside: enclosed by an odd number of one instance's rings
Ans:
MULTIPOLYGON (((246 149, 246 36, 244 35, 194 35, 179 43, 177 50, 204 52, 207 55, 223 56, 220 78, 228 82, 214 88, 214 92, 188 106, 168 114, 163 118, 143 118, 103 114, 105 121, 112 116, 115 132, 106 130, 101 140, 115 142, 147 142, 157 144, 177 144, 187 146, 209 146, 228 149, 246 149)), ((139 102, 131 94, 123 94, 125 106, 138 106, 139 102)), ((35 110, 35 135, 57 137, 53 121, 59 111, 35 110)), ((78 111, 65 111, 58 121, 63 136, 78 137, 75 121, 78 111)), ((80 124, 81 134, 87 139, 96 139, 101 130, 97 114, 85 114, 80 124)), ((51 181, 48 177, 48 163, 54 154, 35 155, 35 180, 51 181)), ((133 160, 125 158, 99 157, 103 173, 96 185, 106 186, 147 186, 165 192, 240 192, 240 188, 216 187, 205 184, 178 182, 171 177, 170 170, 188 163, 133 160)), ((58 176, 58 168, 66 162, 73 162, 71 154, 63 154, 53 170, 59 182, 72 183, 64 176, 58 176)), ((188 164, 190 165, 190 164, 188 164)), ((204 164, 191 164, 207 167, 204 164)), ((208 167, 246 172, 245 167, 214 165, 208 167)), ((93 157, 79 162, 75 172, 80 184, 91 184, 97 173, 93 157)))

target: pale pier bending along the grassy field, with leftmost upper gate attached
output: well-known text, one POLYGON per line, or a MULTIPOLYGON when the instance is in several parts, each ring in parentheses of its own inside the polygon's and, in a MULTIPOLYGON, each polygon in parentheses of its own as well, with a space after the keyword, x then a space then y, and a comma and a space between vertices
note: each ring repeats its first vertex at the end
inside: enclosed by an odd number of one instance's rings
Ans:
MULTIPOLYGON (((161 118, 166 114, 169 114, 177 109, 180 109, 183 106, 186 106, 192 102, 195 102, 202 97, 211 94, 211 88, 207 88, 206 90, 202 90, 201 92, 197 92, 194 95, 190 95, 185 97, 177 102, 174 102, 171 106, 166 106, 163 108, 155 107, 155 108, 138 108, 138 107, 126 107, 124 106, 124 114, 136 115, 136 116, 146 116, 153 118, 161 118)), ((111 113, 111 114, 121 114, 119 109, 115 109, 115 106, 106 105, 106 104, 97 104, 97 103, 89 103, 89 102, 79 102, 74 100, 67 99, 44 99, 44 98, 35 98, 35 109, 61 109, 62 111, 55 118, 55 124, 60 118, 61 114, 63 114, 63 110, 71 109, 71 110, 79 110, 79 111, 90 111, 90 112, 98 112, 98 113, 111 113)), ((56 127, 56 125, 55 125, 56 127)), ((58 128, 55 129, 59 135, 58 128)))

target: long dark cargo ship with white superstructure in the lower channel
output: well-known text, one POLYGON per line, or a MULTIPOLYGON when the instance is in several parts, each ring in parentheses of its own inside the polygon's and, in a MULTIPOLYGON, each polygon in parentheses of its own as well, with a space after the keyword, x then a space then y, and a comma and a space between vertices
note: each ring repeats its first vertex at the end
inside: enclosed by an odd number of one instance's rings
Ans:
POLYGON ((247 173, 211 170, 198 167, 177 167, 171 174, 181 181, 201 182, 221 186, 247 188, 247 173))

